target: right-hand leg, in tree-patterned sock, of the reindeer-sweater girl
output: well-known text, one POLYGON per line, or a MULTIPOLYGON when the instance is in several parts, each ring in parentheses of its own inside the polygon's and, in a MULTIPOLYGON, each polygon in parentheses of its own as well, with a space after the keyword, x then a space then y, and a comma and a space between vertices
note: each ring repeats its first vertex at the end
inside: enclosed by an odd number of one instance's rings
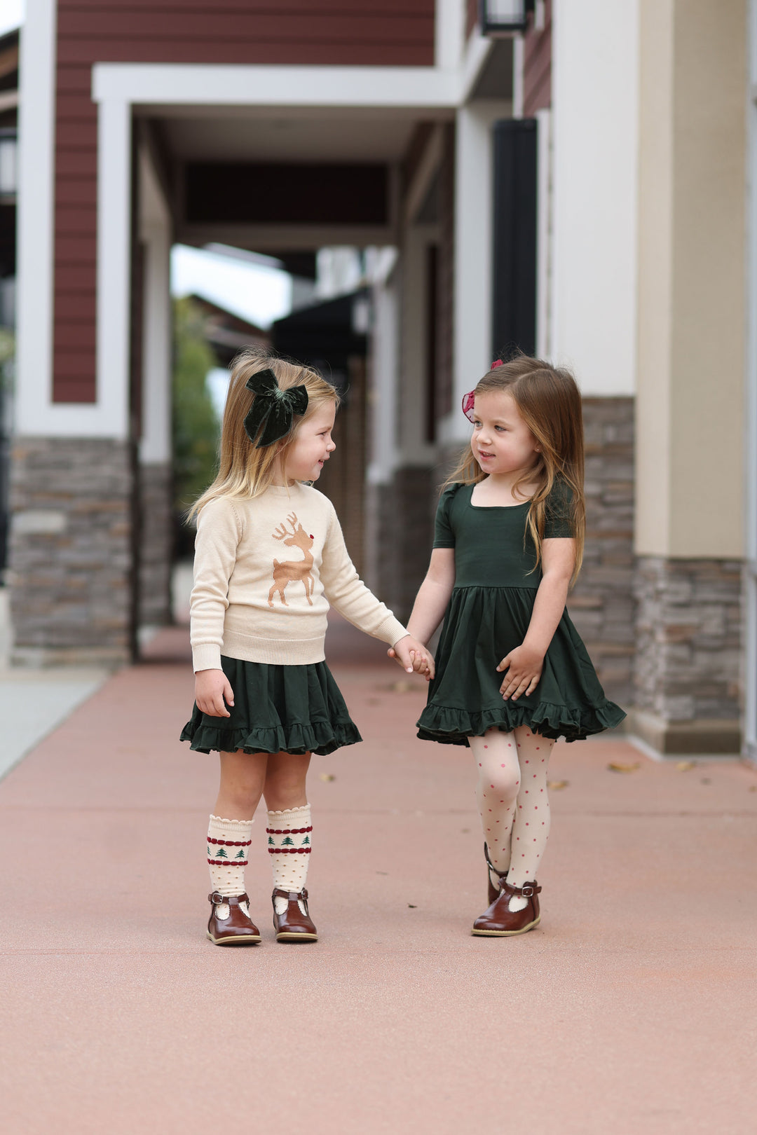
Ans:
MULTIPOLYGON (((274 890, 300 894, 308 878, 312 846, 312 823, 305 790, 310 754, 277 753, 268 759, 263 792, 268 805, 268 850, 274 872, 274 890)), ((274 909, 281 916, 287 899, 277 896, 274 909)), ((301 913, 305 906, 300 900, 301 913)))

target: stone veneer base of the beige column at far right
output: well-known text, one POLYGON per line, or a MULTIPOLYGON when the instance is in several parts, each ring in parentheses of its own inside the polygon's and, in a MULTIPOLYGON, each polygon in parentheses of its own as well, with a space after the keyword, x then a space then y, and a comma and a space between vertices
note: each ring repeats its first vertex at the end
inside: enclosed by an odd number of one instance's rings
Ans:
POLYGON ((634 730, 662 753, 738 753, 741 562, 642 556, 634 730))

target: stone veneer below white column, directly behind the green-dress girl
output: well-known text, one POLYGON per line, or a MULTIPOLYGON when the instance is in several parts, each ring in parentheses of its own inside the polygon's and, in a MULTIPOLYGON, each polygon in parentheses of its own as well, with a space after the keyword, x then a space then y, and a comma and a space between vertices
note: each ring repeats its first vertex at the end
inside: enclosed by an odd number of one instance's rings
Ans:
POLYGON ((608 698, 633 704, 633 398, 583 398, 587 532, 567 599, 608 698))

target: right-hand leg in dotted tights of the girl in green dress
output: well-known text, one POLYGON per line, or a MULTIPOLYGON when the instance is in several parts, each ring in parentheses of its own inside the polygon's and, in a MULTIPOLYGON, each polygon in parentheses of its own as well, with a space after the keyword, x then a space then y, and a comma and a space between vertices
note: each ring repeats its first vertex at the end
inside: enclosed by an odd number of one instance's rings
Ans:
MULTIPOLYGON (((530 729, 515 730, 515 743, 522 782, 518 792, 513 824, 512 863, 507 882, 513 886, 532 883, 549 838, 549 796, 547 768, 554 741, 530 729)), ((522 910, 527 900, 513 897, 511 910, 522 910)))

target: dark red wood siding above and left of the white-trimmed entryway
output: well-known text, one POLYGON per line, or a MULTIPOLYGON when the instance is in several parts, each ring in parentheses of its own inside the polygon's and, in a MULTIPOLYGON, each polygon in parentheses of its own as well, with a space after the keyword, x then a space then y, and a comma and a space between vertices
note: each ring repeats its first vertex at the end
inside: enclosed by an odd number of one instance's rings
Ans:
POLYGON ((56 402, 95 397, 95 62, 434 65, 434 0, 59 0, 56 402))

